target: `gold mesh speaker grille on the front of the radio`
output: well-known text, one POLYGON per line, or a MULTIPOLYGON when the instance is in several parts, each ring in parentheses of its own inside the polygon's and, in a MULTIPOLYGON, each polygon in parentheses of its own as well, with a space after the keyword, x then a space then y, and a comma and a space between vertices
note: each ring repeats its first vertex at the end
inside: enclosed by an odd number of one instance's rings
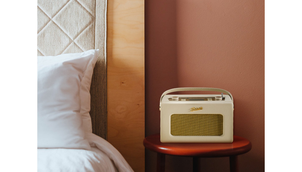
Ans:
POLYGON ((223 134, 221 114, 173 114, 171 135, 218 136, 223 134))

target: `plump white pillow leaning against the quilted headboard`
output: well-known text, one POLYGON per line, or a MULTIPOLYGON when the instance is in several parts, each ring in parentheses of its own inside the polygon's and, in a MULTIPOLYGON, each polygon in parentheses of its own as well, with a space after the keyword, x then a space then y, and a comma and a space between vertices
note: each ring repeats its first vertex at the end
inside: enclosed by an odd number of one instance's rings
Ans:
POLYGON ((85 81, 86 73, 97 57, 98 50, 38 57, 38 148, 91 149, 82 126, 80 91, 82 81, 84 87, 91 82, 85 81))

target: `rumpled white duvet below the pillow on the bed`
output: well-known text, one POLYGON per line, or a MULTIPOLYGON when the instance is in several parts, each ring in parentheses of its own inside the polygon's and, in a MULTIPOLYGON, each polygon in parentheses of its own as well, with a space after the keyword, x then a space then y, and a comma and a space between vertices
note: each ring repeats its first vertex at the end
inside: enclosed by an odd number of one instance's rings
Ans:
POLYGON ((39 172, 133 172, 124 157, 105 139, 86 133, 91 150, 38 149, 39 172))

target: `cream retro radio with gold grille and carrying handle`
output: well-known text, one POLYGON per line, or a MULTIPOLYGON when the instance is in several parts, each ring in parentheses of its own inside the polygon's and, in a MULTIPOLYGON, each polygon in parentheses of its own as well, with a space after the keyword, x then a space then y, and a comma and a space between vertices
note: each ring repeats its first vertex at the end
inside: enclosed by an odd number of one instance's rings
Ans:
POLYGON ((160 100, 162 143, 232 143, 233 97, 219 88, 173 88, 160 100), (166 95, 215 91, 219 95, 166 95), (224 95, 225 93, 226 95, 224 95))

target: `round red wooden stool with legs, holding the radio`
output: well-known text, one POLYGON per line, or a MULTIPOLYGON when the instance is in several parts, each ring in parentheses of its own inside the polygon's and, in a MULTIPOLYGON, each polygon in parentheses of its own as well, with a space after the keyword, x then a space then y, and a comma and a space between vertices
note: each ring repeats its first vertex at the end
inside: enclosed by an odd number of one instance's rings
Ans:
POLYGON ((165 155, 193 157, 193 171, 199 172, 200 157, 230 157, 230 171, 238 172, 237 155, 251 150, 251 142, 234 135, 233 143, 161 143, 160 134, 146 137, 145 148, 157 152, 157 172, 165 171, 165 155))

